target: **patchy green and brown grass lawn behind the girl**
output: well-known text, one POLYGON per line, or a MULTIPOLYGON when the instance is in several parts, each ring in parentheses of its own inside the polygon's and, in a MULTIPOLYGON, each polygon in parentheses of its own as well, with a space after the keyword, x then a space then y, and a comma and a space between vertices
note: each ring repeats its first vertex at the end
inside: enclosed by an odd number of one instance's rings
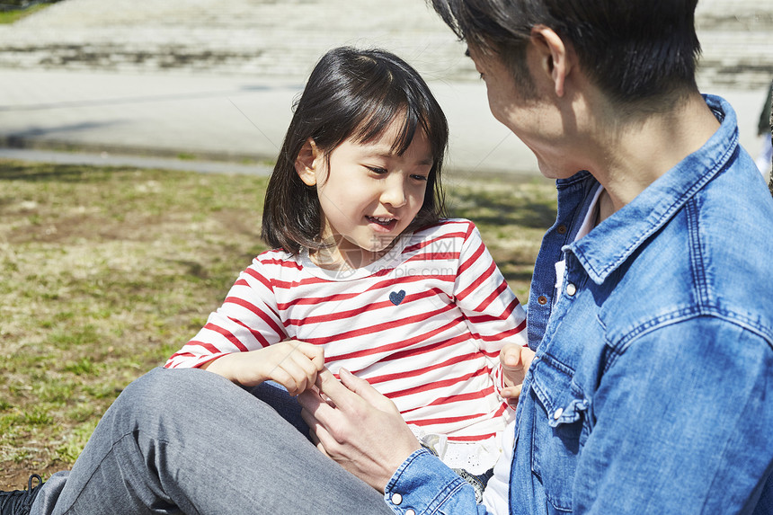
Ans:
MULTIPOLYGON (((206 321, 260 241, 267 179, 0 160, 0 489, 68 468, 121 389, 206 321)), ((446 181, 525 301, 546 181, 446 181)))

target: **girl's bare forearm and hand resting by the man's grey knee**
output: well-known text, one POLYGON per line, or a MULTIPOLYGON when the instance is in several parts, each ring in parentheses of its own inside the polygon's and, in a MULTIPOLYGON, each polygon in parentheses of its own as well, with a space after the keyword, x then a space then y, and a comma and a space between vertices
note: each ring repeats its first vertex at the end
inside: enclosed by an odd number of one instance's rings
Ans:
POLYGON ((311 343, 286 340, 257 351, 227 354, 202 368, 244 386, 271 379, 287 388, 289 395, 298 395, 314 386, 324 368, 324 351, 311 343))

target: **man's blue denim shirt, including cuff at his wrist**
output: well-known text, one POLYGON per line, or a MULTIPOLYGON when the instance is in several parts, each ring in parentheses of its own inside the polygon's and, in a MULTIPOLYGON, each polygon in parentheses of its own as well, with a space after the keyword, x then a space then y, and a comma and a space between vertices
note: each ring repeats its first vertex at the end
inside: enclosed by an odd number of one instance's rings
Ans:
MULTIPOLYGON (((712 138, 580 240, 598 182, 557 182, 529 295, 513 514, 773 513, 773 200, 733 109, 706 103, 712 138)), ((422 450, 385 500, 486 512, 422 450)))

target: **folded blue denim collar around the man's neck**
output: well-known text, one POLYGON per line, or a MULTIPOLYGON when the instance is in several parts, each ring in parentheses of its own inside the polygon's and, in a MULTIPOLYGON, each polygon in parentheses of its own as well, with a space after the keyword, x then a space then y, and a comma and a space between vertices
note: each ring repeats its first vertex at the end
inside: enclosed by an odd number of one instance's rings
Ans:
POLYGON ((720 127, 706 144, 650 184, 581 240, 564 246, 588 276, 601 284, 719 173, 738 150, 735 111, 724 99, 704 95, 720 127))

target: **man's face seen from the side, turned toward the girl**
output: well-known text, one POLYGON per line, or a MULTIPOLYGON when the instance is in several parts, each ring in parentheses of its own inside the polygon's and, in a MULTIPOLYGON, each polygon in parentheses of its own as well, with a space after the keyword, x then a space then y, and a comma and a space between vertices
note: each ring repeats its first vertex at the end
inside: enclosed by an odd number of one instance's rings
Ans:
POLYGON ((527 67, 533 87, 522 91, 510 67, 492 52, 470 47, 470 58, 486 85, 489 108, 496 120, 520 138, 537 156, 539 170, 546 177, 569 177, 577 169, 566 163, 564 123, 552 94, 551 84, 540 73, 538 56, 527 50, 527 67), (534 73, 534 72, 537 73, 534 73), (540 82, 542 78, 542 82, 540 82))

